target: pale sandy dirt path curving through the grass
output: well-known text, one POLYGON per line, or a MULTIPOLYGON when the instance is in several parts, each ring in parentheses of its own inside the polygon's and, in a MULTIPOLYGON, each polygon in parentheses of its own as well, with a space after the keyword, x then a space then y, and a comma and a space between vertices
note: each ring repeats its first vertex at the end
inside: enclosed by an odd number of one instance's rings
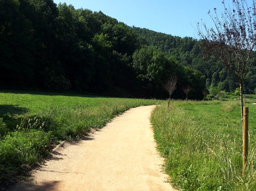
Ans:
POLYGON ((87 140, 65 143, 13 190, 174 190, 150 124, 154 106, 132 108, 87 140))

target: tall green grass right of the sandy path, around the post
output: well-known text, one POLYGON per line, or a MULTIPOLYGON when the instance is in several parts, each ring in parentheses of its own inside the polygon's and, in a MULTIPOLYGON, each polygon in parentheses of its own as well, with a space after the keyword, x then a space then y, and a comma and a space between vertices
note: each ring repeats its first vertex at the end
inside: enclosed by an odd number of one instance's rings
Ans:
POLYGON ((249 160, 242 176, 239 101, 172 101, 152 124, 166 171, 181 190, 256 190, 256 105, 249 105, 249 160))

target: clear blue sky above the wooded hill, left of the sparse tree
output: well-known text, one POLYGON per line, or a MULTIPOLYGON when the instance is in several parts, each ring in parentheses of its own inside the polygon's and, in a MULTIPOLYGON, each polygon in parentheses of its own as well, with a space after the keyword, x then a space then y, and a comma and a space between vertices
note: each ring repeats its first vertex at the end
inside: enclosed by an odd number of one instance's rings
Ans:
MULTIPOLYGON (((247 0, 248 4, 249 1, 247 0)), ((198 38, 195 27, 201 19, 212 24, 209 9, 223 11, 222 0, 54 0, 75 8, 101 10, 129 26, 149 28, 176 36, 198 38)), ((232 0, 225 0, 232 4, 232 0)))

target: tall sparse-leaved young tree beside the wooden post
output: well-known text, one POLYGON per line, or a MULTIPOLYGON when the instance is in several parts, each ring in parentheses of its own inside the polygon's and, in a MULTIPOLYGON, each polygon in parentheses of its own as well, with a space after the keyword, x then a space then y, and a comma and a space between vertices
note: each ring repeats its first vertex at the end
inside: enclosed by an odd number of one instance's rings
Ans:
MULTIPOLYGON (((246 0, 233 0, 232 8, 222 1, 224 12, 212 18, 215 28, 198 22, 198 35, 203 45, 231 72, 239 82, 241 117, 243 117, 243 82, 255 58, 256 3, 248 6, 246 0)), ((243 121, 242 121, 243 126, 243 121)))

